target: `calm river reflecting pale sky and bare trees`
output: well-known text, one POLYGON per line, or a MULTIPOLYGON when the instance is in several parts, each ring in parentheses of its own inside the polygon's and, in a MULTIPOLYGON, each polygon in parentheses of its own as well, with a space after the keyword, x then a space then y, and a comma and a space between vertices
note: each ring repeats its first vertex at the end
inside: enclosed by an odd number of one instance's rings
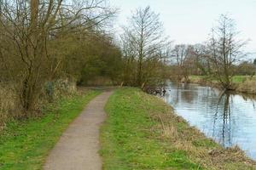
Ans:
POLYGON ((256 160, 256 97, 223 94, 197 84, 169 83, 164 99, 177 115, 224 147, 238 145, 256 160))

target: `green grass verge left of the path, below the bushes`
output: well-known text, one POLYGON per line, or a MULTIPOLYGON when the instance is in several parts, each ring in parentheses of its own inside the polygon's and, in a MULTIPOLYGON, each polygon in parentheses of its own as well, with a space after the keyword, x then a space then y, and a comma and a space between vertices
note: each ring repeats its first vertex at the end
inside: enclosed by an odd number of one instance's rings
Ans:
POLYGON ((61 133, 97 94, 76 94, 47 106, 41 117, 9 122, 0 133, 0 169, 41 169, 61 133))

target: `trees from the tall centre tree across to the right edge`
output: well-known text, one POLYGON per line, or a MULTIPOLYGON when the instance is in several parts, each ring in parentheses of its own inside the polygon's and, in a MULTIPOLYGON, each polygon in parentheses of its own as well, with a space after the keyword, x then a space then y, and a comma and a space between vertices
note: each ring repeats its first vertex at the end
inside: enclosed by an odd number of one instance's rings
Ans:
POLYGON ((229 90, 234 76, 255 75, 255 60, 247 61, 248 40, 240 38, 235 20, 221 14, 209 35, 203 43, 175 45, 165 37, 159 14, 137 8, 121 36, 123 82, 148 91, 169 78, 189 82, 190 75, 203 75, 229 90))

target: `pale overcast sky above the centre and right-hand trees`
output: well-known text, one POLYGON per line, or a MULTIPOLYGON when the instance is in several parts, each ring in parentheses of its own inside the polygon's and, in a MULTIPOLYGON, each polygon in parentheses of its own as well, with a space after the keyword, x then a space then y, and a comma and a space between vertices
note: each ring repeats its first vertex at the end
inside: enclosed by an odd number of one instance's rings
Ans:
POLYGON ((119 8, 118 25, 125 25, 136 8, 150 6, 160 14, 166 35, 176 43, 207 40, 220 14, 236 20, 243 39, 250 39, 247 50, 256 52, 256 0, 110 0, 119 8))

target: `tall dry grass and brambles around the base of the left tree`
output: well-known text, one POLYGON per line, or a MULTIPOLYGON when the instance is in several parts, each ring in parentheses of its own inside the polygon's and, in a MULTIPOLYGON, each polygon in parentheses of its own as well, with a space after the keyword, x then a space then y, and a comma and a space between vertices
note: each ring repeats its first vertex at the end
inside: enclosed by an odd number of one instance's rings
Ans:
MULTIPOLYGON (((21 114, 20 100, 14 83, 0 83, 0 131, 5 127, 6 122, 12 118, 24 118, 21 114)), ((76 85, 67 80, 47 82, 40 93, 37 108, 26 116, 38 116, 43 105, 52 103, 62 97, 76 93, 76 85)), ((28 117, 26 117, 28 118, 28 117)))

